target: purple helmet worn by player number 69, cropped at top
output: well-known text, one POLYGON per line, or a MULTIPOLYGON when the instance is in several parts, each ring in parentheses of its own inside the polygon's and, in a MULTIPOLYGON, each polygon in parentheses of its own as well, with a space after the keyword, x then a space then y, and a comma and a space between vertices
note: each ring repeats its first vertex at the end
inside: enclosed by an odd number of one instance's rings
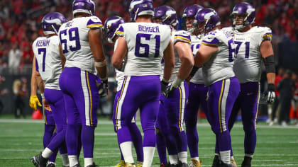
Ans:
POLYGON ((95 4, 92 0, 74 0, 72 2, 72 14, 87 13, 90 16, 95 15, 95 4))

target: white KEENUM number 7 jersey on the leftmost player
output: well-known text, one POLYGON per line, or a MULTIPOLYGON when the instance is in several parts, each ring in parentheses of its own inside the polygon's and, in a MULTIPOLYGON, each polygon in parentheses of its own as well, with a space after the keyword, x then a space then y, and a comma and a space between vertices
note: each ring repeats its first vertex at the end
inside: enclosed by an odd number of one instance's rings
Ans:
POLYGON ((39 71, 41 79, 45 81, 45 88, 60 90, 59 77, 62 72, 62 63, 59 44, 57 35, 49 38, 39 37, 32 44, 35 68, 39 71))

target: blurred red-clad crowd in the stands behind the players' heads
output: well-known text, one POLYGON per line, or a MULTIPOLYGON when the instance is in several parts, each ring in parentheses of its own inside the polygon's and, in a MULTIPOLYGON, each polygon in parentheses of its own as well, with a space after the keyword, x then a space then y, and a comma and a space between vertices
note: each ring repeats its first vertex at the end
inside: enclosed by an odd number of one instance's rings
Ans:
MULTIPOLYGON (((105 21, 109 16, 122 16, 129 21, 128 0, 94 0, 96 16, 105 21)), ((184 7, 201 4, 215 8, 221 16, 221 24, 231 25, 230 13, 233 6, 240 1, 227 0, 156 0, 155 6, 167 4, 177 10, 182 28, 184 7)), ((257 11, 256 24, 272 28, 273 44, 277 46, 282 40, 298 38, 298 1, 297 0, 258 0, 248 1, 257 11)), ((63 13, 69 20, 72 18, 72 1, 69 0, 1 0, 0 1, 0 73, 16 74, 30 67, 33 59, 31 44, 42 35, 40 21, 50 11, 63 13), (28 65, 28 66, 26 66, 28 65), (9 67, 9 68, 8 68, 9 67)), ((113 50, 105 44, 106 55, 113 50)), ((30 71, 30 70, 28 70, 30 71)))

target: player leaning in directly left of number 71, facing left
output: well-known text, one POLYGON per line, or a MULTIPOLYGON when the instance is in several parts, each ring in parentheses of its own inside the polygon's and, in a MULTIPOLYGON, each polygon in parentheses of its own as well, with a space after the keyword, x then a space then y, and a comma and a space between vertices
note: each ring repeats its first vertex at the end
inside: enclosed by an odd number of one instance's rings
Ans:
POLYGON ((202 39, 190 76, 202 67, 204 84, 208 86, 207 119, 219 142, 220 167, 231 163, 231 136, 228 119, 239 94, 240 84, 233 72, 235 49, 231 31, 220 30, 219 16, 211 8, 199 11, 194 20, 195 28, 202 28, 202 39))

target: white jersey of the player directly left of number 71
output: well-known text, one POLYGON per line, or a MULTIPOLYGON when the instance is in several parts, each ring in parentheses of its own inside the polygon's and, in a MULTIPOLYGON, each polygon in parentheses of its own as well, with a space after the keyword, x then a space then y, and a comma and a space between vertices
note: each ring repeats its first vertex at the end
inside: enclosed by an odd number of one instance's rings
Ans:
POLYGON ((209 61, 203 65, 204 84, 206 86, 235 76, 233 72, 235 52, 231 31, 211 31, 204 36, 201 44, 218 47, 216 54, 213 54, 209 61))

